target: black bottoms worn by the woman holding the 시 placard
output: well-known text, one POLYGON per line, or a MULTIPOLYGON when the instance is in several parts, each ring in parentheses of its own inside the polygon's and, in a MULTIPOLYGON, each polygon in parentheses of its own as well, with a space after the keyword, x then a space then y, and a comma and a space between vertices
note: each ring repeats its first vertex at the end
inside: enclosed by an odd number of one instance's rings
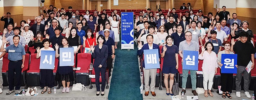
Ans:
POLYGON ((54 87, 54 77, 53 70, 41 69, 40 70, 40 86, 48 86, 50 88, 54 87))

